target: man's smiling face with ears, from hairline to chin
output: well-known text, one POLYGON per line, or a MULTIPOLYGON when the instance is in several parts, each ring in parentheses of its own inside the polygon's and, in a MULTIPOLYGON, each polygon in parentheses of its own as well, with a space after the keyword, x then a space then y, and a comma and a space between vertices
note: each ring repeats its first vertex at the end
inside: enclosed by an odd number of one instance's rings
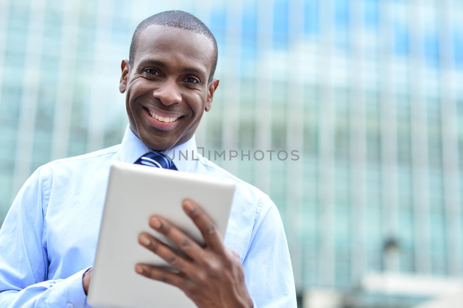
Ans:
POLYGON ((213 43, 198 33, 152 25, 140 32, 133 67, 122 62, 119 90, 130 128, 153 150, 188 141, 209 111, 219 80, 207 82, 213 43))

